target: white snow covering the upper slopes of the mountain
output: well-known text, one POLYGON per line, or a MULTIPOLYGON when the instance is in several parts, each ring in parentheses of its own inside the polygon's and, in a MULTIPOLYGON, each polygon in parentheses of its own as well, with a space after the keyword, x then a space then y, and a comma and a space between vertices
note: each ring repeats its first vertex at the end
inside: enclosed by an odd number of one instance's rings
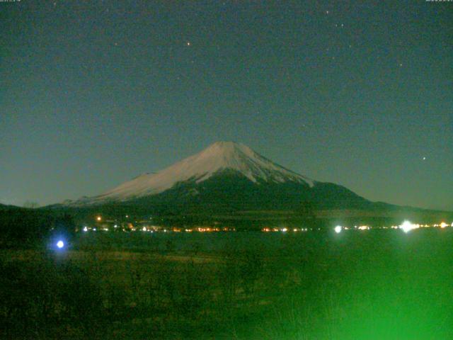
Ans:
POLYGON ((314 181, 275 164, 246 145, 216 142, 202 152, 159 171, 143 174, 100 196, 79 200, 79 203, 101 203, 103 200, 124 201, 162 193, 176 183, 188 180, 200 183, 222 170, 238 171, 254 183, 293 181, 314 186, 314 181))

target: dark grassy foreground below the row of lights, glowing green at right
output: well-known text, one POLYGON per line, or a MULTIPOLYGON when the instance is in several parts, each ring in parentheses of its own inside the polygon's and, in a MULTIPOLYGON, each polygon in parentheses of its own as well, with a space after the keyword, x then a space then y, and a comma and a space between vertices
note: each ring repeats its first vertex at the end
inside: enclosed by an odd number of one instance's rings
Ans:
POLYGON ((453 228, 0 251, 1 339, 453 339, 453 228))

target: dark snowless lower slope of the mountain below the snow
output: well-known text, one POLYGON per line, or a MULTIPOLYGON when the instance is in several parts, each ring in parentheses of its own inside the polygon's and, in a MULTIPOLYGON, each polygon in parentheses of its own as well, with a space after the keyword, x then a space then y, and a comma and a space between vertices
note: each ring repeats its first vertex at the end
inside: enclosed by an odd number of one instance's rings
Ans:
POLYGON ((181 182, 163 193, 125 202, 144 208, 159 206, 192 212, 301 210, 307 203, 314 203, 317 208, 369 208, 372 204, 333 183, 315 182, 312 187, 297 181, 254 183, 231 169, 219 171, 200 183, 181 182))

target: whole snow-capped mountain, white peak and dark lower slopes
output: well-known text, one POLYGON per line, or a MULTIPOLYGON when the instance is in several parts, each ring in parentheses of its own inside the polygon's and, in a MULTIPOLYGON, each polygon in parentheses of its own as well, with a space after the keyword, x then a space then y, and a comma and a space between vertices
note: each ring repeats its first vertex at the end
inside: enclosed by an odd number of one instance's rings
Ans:
POLYGON ((98 196, 65 201, 73 208, 120 206, 145 210, 241 211, 371 208, 343 186, 314 181, 246 145, 216 142, 156 174, 142 174, 98 196))

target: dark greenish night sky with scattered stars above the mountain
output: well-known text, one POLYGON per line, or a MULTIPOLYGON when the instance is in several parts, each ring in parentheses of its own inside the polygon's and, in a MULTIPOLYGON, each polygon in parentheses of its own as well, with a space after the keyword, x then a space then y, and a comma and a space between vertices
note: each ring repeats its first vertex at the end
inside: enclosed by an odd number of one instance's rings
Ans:
POLYGON ((0 27, 0 203, 91 196, 235 140, 453 210, 452 2, 22 0, 0 27))

